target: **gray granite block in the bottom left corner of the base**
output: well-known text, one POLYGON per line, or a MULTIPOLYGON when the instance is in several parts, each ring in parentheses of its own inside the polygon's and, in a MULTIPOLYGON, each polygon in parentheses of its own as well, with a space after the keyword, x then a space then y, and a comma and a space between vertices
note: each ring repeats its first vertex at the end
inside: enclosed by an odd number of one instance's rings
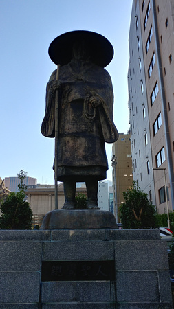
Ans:
POLYGON ((39 273, 0 272, 0 304, 39 302, 39 273))

